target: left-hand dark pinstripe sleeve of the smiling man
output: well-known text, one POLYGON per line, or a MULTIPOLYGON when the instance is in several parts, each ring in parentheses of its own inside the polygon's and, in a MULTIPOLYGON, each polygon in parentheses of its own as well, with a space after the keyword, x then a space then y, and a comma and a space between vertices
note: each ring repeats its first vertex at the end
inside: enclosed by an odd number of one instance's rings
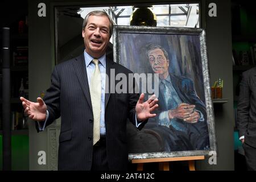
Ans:
MULTIPOLYGON (((60 117, 60 78, 57 73, 57 67, 54 68, 51 76, 51 86, 46 91, 46 95, 43 98, 49 112, 49 117, 46 122, 46 127, 51 125, 55 119, 60 117)), ((39 130, 38 122, 36 123, 36 130, 39 130)))

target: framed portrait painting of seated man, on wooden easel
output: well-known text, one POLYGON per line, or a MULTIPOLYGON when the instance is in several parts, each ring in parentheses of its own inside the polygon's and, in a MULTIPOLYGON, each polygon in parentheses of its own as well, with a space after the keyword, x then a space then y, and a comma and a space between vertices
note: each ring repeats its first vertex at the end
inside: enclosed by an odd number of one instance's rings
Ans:
POLYGON ((139 93, 159 100, 141 130, 127 123, 130 160, 216 152, 203 29, 115 26, 113 52, 137 75, 139 93))

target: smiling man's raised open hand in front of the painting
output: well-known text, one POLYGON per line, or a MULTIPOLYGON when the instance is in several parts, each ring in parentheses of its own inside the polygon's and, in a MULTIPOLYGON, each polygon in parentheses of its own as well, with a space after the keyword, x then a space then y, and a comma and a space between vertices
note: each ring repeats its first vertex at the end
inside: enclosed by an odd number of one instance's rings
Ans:
POLYGON ((144 121, 156 116, 156 114, 151 114, 152 111, 158 107, 158 104, 156 104, 158 99, 154 97, 155 95, 151 96, 146 102, 143 102, 144 94, 142 93, 141 96, 139 96, 139 100, 135 107, 138 121, 144 121))

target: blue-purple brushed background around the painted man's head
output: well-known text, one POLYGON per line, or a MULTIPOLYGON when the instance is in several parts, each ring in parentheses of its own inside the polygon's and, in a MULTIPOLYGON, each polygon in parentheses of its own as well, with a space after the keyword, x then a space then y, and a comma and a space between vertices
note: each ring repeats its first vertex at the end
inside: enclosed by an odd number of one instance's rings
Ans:
POLYGON ((119 41, 119 63, 134 73, 152 73, 146 57, 146 44, 162 46, 168 52, 169 72, 191 78, 197 95, 205 104, 199 35, 121 33, 119 41))

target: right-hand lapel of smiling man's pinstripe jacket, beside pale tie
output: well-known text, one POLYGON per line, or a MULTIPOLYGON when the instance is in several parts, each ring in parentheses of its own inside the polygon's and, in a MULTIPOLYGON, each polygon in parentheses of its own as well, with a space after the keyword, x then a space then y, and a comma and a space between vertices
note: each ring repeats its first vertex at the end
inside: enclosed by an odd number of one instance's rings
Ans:
POLYGON ((111 93, 114 93, 115 74, 110 75, 110 70, 114 70, 114 61, 106 58, 106 85, 105 85, 105 109, 111 93))

